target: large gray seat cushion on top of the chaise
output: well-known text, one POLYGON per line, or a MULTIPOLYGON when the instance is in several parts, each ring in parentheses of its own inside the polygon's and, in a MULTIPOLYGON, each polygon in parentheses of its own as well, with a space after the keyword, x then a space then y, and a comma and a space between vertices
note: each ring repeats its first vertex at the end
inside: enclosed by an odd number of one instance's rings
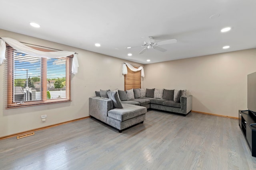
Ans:
POLYGON ((119 121, 125 121, 140 115, 143 115, 147 112, 146 107, 136 106, 131 104, 122 104, 123 108, 115 108, 108 111, 108 117, 119 121))

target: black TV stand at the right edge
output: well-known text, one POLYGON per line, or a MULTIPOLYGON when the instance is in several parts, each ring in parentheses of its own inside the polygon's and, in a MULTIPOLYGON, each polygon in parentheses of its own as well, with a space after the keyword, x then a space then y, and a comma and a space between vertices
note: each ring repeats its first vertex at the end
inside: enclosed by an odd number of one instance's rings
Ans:
POLYGON ((248 113, 250 111, 239 110, 239 126, 244 134, 244 138, 252 152, 252 156, 256 157, 256 121, 248 113))

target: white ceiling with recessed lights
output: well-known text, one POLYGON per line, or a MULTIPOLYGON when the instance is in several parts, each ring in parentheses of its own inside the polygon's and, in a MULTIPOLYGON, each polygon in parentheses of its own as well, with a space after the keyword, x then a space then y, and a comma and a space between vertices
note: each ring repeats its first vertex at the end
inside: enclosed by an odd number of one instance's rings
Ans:
POLYGON ((256 0, 0 0, 0 6, 0 29, 142 64, 256 48, 256 0), (221 33, 227 26, 231 31, 221 33), (149 36, 177 43, 161 45, 164 53, 125 49, 149 36))

